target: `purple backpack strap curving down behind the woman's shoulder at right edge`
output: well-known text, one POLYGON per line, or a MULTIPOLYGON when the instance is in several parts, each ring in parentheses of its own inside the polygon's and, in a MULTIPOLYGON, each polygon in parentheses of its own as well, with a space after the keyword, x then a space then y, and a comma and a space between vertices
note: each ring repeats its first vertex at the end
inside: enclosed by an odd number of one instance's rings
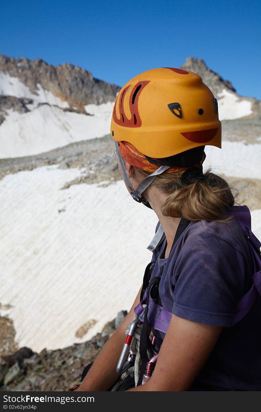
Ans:
POLYGON ((233 217, 240 224, 249 240, 249 246, 254 262, 254 275, 252 276, 253 285, 237 304, 237 309, 233 318, 233 323, 235 325, 235 323, 240 321, 252 307, 257 294, 259 293, 259 295, 261 295, 261 254, 259 250, 261 243, 251 231, 251 215, 247 206, 241 206, 240 212, 233 213, 233 217))

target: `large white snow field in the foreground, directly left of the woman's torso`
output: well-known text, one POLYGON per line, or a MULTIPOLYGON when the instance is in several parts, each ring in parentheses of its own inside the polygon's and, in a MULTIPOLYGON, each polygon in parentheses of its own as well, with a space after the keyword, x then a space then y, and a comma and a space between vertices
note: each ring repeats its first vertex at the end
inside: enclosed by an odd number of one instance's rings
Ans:
POLYGON ((79 174, 45 166, 0 181, 0 302, 12 304, 1 314, 13 319, 20 347, 57 349, 101 331, 130 309, 151 259, 153 211, 122 181, 61 190, 79 174), (75 338, 90 319, 97 323, 75 338))

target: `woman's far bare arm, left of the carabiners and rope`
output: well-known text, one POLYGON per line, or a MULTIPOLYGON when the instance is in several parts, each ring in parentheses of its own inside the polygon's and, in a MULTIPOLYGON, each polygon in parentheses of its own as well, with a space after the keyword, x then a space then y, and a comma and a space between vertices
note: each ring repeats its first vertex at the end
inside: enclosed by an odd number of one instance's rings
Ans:
POLYGON ((112 337, 103 346, 92 368, 89 370, 77 391, 108 391, 118 379, 119 375, 116 372, 116 367, 126 339, 125 330, 128 324, 132 323, 134 308, 139 304, 140 293, 141 289, 129 313, 118 329, 115 330, 112 337))

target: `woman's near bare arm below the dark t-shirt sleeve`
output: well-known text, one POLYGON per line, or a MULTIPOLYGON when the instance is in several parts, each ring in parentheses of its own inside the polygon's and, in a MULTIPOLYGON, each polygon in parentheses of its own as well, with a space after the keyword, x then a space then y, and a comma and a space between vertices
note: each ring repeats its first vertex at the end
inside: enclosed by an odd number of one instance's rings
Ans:
POLYGON ((129 391, 187 391, 207 361, 221 326, 203 325, 172 315, 152 377, 129 391))

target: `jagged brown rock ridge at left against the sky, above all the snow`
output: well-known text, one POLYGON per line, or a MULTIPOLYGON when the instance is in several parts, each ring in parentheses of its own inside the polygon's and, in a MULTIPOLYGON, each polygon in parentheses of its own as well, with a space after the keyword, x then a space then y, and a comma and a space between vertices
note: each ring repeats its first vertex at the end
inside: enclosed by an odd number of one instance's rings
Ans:
POLYGON ((42 59, 14 59, 0 54, 0 72, 20 79, 32 94, 37 93, 40 84, 71 107, 82 110, 87 104, 114 101, 120 90, 116 84, 96 79, 88 70, 70 63, 52 66, 42 59))

